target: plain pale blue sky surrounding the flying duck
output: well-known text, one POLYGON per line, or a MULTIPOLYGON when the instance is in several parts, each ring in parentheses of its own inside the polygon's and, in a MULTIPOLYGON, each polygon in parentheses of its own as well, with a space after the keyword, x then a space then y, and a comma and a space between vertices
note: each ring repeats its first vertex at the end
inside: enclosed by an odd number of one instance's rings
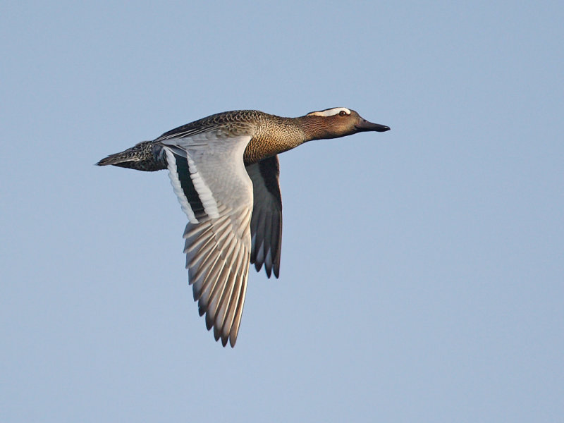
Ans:
POLYGON ((562 422, 561 1, 3 1, 1 422, 562 422), (281 156, 280 279, 197 315, 166 172, 231 109, 388 133, 281 156))

